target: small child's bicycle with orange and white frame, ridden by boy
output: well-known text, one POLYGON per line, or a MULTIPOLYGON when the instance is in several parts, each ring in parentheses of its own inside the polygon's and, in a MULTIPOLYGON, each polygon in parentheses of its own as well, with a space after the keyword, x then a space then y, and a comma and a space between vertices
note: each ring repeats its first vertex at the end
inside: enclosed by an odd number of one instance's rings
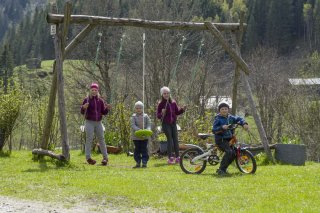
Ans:
MULTIPOLYGON (((234 130, 237 127, 238 125, 231 125, 229 130, 234 130)), ((198 136, 205 140, 213 137, 214 134, 199 133, 198 136)), ((252 153, 246 147, 240 146, 235 135, 229 144, 235 149, 235 162, 239 171, 245 174, 254 174, 257 170, 257 163, 252 153)), ((187 145, 191 148, 185 150, 180 156, 180 167, 186 174, 201 174, 205 170, 207 162, 212 166, 221 162, 223 151, 216 144, 207 143, 205 150, 194 144, 187 145)))

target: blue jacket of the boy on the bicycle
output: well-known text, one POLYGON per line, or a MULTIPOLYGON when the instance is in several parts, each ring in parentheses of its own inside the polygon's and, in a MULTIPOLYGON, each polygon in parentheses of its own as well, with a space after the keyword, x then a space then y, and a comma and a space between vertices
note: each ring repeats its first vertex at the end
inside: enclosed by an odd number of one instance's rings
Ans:
POLYGON ((229 124, 240 124, 243 126, 244 124, 247 124, 247 122, 239 117, 239 116, 234 116, 231 114, 228 114, 227 117, 224 117, 220 114, 216 115, 213 121, 213 127, 212 127, 212 132, 215 134, 215 139, 220 139, 220 138, 231 138, 232 135, 234 134, 234 130, 224 130, 222 129, 223 125, 229 125, 229 124))

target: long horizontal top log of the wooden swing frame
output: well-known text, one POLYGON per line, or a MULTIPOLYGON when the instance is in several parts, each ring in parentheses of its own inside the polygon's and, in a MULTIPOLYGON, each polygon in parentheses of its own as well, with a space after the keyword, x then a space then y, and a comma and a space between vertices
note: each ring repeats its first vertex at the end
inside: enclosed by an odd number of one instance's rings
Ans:
MULTIPOLYGON (((60 24, 63 22, 64 15, 47 15, 47 22, 50 24, 60 24)), ((71 24, 99 24, 108 26, 130 26, 143 27, 158 30, 208 30, 202 22, 178 22, 178 21, 151 21, 133 18, 113 18, 103 16, 71 15, 71 24)), ((220 31, 239 30, 239 23, 212 23, 220 31)))

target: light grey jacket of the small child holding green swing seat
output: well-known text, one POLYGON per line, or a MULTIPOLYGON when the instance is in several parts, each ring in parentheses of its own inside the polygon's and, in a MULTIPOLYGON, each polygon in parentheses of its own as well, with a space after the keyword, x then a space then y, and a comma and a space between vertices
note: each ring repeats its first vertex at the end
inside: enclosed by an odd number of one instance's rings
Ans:
MULTIPOLYGON (((151 120, 149 116, 144 113, 144 129, 149 129, 151 130, 151 120)), ((134 132, 137 130, 140 130, 143 128, 143 120, 142 120, 142 113, 141 114, 136 114, 134 113, 131 116, 131 139, 132 140, 146 140, 148 138, 138 138, 137 136, 134 135, 134 132)))

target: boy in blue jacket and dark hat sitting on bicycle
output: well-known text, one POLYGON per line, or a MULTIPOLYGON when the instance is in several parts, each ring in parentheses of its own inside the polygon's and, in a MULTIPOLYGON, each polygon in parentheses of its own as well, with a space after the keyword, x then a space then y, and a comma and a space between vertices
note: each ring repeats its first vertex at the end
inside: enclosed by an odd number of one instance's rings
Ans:
POLYGON ((239 124, 245 130, 249 129, 248 123, 243 118, 229 114, 229 108, 230 106, 227 102, 219 103, 219 113, 214 118, 212 127, 212 132, 215 134, 215 142, 225 153, 220 163, 220 168, 217 170, 218 175, 227 174, 227 168, 236 156, 234 149, 229 145, 229 141, 234 134, 234 130, 229 129, 230 125, 239 124))

